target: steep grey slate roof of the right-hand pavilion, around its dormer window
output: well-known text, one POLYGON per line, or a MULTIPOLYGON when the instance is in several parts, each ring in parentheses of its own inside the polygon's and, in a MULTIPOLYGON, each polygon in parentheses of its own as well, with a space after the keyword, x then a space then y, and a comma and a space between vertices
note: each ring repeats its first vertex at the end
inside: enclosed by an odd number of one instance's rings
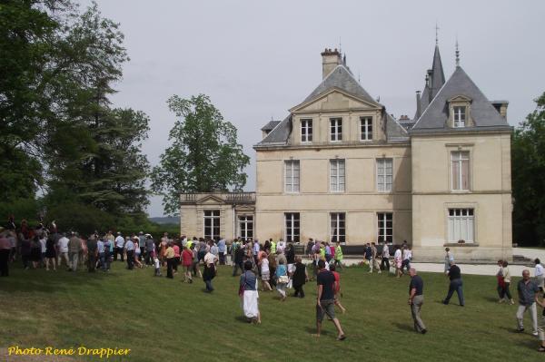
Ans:
POLYGON ((471 78, 459 66, 452 73, 451 78, 445 83, 430 105, 422 112, 419 120, 414 124, 410 132, 419 131, 459 131, 471 129, 484 129, 486 127, 508 127, 507 120, 501 117, 492 103, 481 92, 479 87, 471 81, 471 78), (447 127, 449 118, 448 100, 457 95, 464 95, 471 99, 472 127, 452 129, 447 127))

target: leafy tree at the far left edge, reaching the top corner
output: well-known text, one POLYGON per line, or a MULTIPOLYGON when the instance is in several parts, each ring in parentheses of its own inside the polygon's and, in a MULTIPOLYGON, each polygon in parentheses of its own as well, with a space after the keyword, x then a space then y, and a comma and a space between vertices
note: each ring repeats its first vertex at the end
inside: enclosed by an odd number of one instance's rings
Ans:
POLYGON ((73 14, 68 0, 0 3, 0 195, 33 198, 42 184, 40 145, 50 118, 44 89, 55 73, 55 39, 73 14))

